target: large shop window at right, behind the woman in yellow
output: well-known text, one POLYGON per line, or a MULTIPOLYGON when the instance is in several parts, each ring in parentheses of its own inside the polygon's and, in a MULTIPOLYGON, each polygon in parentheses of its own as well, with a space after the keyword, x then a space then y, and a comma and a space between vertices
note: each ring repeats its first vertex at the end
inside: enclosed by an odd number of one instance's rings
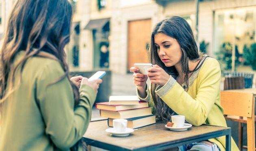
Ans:
MULTIPOLYGON (((237 67, 245 65, 244 46, 256 42, 256 6, 216 10, 214 27, 214 51, 234 55, 237 67), (232 54, 233 46, 235 54, 232 54)), ((226 69, 231 69, 229 58, 226 69)))

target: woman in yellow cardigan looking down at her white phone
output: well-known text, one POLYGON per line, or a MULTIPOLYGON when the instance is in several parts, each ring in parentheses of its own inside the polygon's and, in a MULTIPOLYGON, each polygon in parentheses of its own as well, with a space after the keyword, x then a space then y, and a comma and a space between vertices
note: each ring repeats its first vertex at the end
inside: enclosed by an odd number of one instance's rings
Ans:
MULTIPOLYGON (((200 55, 191 27, 181 17, 165 19, 154 27, 148 74, 131 67, 137 95, 149 101, 158 120, 184 115, 194 126, 227 126, 220 105, 221 70, 217 60, 200 55), (150 79, 150 85, 146 81, 150 79)), ((181 151, 225 150, 225 136, 178 147, 181 151)), ((178 150, 176 149, 176 150, 178 150)), ((175 150, 175 149, 174 149, 175 150)), ((232 140, 232 150, 238 150, 232 140)))

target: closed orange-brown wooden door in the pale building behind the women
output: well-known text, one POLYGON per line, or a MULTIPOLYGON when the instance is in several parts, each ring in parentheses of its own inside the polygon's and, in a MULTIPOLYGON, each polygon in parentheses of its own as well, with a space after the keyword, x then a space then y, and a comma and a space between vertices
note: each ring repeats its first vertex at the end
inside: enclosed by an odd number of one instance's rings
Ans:
POLYGON ((135 63, 149 63, 150 34, 151 19, 128 21, 128 72, 135 63))

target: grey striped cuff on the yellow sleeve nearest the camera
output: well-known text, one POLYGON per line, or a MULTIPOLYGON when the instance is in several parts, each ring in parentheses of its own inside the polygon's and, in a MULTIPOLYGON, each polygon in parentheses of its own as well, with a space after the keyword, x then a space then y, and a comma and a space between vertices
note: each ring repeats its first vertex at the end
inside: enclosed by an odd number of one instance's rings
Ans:
POLYGON ((156 87, 156 90, 155 90, 156 94, 160 98, 165 96, 169 92, 169 90, 171 90, 171 88, 174 86, 175 83, 176 83, 176 80, 172 78, 172 76, 170 76, 169 80, 166 82, 164 86, 156 87))

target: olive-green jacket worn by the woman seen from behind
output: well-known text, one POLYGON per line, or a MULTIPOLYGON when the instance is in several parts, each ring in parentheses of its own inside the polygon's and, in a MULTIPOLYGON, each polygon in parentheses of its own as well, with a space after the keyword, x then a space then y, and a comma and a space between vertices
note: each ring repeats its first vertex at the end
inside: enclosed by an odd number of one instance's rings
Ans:
MULTIPOLYGON (((13 64, 23 56, 24 51, 15 57, 13 64)), ((68 78, 49 85, 63 75, 58 61, 42 57, 28 59, 20 84, 18 69, 15 91, 1 107, 0 151, 69 150, 82 138, 96 94, 91 87, 82 85, 80 102, 74 107, 74 94, 68 78)), ((9 77, 7 90, 11 84, 9 77)))

